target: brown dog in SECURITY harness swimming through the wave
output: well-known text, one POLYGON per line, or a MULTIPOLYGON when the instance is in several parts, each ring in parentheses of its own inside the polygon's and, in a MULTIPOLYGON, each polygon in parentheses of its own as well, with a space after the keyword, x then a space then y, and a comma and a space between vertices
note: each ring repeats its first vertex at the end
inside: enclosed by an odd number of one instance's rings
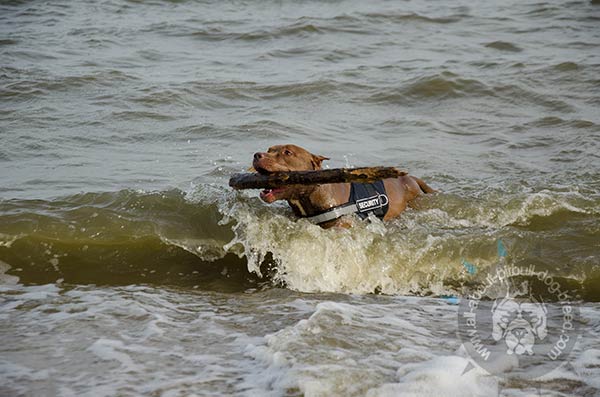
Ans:
MULTIPOLYGON (((272 146, 264 153, 254 154, 254 169, 261 174, 276 171, 309 171, 321 169, 327 157, 314 155, 296 145, 272 146)), ((435 190, 414 176, 385 179, 377 186, 364 184, 332 183, 311 186, 289 186, 267 189, 260 198, 272 203, 287 200, 299 217, 309 218, 323 227, 347 225, 339 218, 357 213, 366 217, 369 212, 388 220, 395 218, 421 193, 435 190), (361 196, 362 192, 362 196, 361 196)))

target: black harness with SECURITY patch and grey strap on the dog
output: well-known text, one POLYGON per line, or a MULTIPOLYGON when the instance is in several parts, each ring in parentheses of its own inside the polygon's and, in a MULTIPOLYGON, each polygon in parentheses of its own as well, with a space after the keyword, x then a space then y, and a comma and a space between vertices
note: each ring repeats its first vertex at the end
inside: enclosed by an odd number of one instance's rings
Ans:
POLYGON ((383 181, 352 183, 347 203, 310 216, 308 220, 320 224, 348 214, 357 214, 361 219, 365 219, 371 213, 378 218, 383 218, 389 209, 389 201, 383 181))

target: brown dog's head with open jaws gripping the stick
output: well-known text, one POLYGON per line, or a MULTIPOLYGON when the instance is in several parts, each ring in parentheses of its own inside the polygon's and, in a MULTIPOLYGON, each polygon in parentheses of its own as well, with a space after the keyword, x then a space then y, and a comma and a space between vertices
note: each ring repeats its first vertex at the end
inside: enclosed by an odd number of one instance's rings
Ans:
MULTIPOLYGON (((318 156, 296 145, 271 146, 266 152, 254 154, 252 167, 260 174, 269 174, 277 171, 311 171, 320 170, 321 163, 329 160, 327 157, 318 156)), ((284 200, 290 196, 290 188, 266 189, 260 198, 267 203, 284 200)))

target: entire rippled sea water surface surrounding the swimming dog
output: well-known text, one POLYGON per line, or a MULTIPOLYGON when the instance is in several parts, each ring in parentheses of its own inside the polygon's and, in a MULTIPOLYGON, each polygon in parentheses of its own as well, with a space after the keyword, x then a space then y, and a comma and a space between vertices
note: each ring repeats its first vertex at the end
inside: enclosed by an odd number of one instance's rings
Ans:
POLYGON ((0 394, 599 393, 599 27, 596 1, 2 2, 0 394), (227 186, 288 142, 439 193, 324 231, 227 186), (541 381, 461 376, 440 298, 499 262, 581 299, 541 381))

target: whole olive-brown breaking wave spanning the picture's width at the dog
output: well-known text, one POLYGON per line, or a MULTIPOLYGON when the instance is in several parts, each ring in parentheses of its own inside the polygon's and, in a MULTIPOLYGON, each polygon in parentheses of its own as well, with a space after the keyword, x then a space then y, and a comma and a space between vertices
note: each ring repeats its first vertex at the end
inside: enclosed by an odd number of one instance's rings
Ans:
POLYGON ((444 295, 478 282, 464 260, 480 274, 494 268, 496 242, 503 240, 515 263, 595 283, 598 264, 589 247, 573 257, 561 252, 560 241, 597 238, 597 199, 574 191, 491 189, 472 197, 423 197, 418 207, 385 224, 373 219, 323 230, 294 219, 284 205, 268 207, 252 194, 211 185, 6 200, 0 260, 26 283, 60 278, 247 288, 262 278, 303 292, 444 295), (560 237, 566 232, 569 237, 560 237), (561 267, 573 261, 577 266, 561 267))

